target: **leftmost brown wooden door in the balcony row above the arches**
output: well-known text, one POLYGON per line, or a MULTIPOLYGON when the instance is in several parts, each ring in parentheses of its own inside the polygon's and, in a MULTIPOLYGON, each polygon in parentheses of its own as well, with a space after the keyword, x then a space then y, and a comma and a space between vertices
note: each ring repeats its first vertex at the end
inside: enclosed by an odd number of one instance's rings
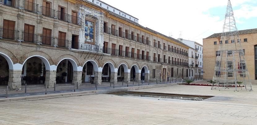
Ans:
POLYGON ((14 39, 15 21, 4 20, 3 22, 3 38, 14 39))

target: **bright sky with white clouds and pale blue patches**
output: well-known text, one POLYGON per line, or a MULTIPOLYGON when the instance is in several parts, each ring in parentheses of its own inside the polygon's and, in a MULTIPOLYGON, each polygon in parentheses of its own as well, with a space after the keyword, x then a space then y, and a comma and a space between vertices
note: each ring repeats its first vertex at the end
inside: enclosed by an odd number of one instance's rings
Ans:
MULTIPOLYGON (((227 0, 102 0, 173 38, 203 43, 222 32, 227 0), (180 32, 181 31, 181 32, 180 32)), ((257 0, 231 0, 238 30, 257 28, 257 0)))

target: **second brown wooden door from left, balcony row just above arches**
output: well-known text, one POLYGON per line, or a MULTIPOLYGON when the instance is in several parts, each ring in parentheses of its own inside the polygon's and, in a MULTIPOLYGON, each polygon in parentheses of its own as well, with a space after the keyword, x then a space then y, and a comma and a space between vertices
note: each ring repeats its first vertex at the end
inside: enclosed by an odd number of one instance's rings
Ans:
POLYGON ((33 25, 24 25, 24 41, 34 42, 34 27, 33 25))

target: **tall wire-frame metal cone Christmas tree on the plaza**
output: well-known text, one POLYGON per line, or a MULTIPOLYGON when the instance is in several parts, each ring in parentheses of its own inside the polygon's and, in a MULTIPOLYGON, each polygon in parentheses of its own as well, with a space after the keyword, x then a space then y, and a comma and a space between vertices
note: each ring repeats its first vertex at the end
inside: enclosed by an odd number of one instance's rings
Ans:
POLYGON ((233 15, 229 0, 211 89, 229 89, 234 91, 244 89, 251 91, 252 86, 246 67, 244 51, 241 47, 233 15))

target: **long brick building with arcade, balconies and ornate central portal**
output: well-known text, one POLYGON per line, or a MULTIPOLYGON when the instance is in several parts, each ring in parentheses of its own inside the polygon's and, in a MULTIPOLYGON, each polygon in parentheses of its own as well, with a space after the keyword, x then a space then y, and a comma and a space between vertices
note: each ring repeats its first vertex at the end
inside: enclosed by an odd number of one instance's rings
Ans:
POLYGON ((9 67, 0 74, 13 90, 26 79, 54 87, 187 78, 188 49, 101 1, 0 0, 0 63, 9 67))

